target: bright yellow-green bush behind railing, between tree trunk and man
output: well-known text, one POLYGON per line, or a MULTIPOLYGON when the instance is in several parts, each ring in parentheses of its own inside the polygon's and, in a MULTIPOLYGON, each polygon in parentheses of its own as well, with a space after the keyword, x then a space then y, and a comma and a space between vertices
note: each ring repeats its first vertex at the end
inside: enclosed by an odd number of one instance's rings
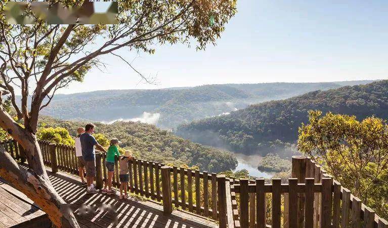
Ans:
POLYGON ((74 145, 75 143, 74 139, 69 135, 69 132, 62 127, 41 127, 38 129, 36 137, 40 140, 46 140, 65 145, 74 145))

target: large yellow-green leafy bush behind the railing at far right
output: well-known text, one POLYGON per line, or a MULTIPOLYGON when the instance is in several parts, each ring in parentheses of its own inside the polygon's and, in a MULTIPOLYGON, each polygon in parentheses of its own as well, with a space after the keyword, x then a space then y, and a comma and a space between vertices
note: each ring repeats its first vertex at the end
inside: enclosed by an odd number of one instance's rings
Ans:
POLYGON ((377 214, 388 215, 388 125, 376 117, 309 111, 309 124, 299 128, 298 148, 377 214))

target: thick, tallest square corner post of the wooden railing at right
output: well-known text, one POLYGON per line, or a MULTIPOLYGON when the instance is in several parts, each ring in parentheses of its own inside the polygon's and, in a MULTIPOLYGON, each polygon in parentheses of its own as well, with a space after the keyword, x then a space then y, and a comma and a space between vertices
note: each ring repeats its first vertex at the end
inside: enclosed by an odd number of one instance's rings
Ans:
MULTIPOLYGON (((306 178, 306 161, 305 156, 292 156, 292 170, 291 177, 297 178, 298 183, 305 183, 306 178)), ((305 195, 302 193, 298 194, 298 205, 296 215, 296 227, 303 227, 305 220, 305 195)), ((293 207, 294 205, 288 205, 293 207)), ((294 219, 294 218, 291 218, 294 219)))

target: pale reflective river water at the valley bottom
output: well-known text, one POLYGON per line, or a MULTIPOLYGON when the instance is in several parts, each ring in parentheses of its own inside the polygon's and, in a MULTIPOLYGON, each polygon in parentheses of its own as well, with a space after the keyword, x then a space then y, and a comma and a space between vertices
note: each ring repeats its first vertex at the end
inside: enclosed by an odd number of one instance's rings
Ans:
POLYGON ((274 173, 262 172, 257 169, 257 164, 263 158, 262 156, 244 155, 244 154, 238 154, 238 153, 234 153, 234 154, 236 155, 236 158, 238 161, 237 168, 234 171, 246 169, 248 170, 250 176, 264 177, 268 179, 274 175, 274 173))

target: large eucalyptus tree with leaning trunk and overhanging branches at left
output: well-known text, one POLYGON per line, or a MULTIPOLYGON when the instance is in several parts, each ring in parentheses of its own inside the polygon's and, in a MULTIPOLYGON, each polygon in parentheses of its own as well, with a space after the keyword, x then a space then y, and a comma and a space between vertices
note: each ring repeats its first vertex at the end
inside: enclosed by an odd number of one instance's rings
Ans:
MULTIPOLYGON (((35 24, 9 24, 4 13, 7 2, 0 3, 0 87, 2 94, 9 94, 16 117, 2 102, 0 126, 24 148, 30 169, 21 168, 2 151, 0 175, 36 202, 54 225, 78 227, 74 215, 62 208, 65 201, 52 187, 42 162, 35 135, 39 111, 59 89, 82 82, 90 69, 103 66, 102 56, 120 58, 149 81, 117 53, 119 49, 153 54, 155 47, 165 44, 194 44, 198 50, 214 45, 236 13, 236 0, 122 0, 119 23, 113 25, 49 24, 36 18, 30 5, 24 16, 35 17, 35 24)), ((82 2, 51 0, 50 6, 82 2)))

